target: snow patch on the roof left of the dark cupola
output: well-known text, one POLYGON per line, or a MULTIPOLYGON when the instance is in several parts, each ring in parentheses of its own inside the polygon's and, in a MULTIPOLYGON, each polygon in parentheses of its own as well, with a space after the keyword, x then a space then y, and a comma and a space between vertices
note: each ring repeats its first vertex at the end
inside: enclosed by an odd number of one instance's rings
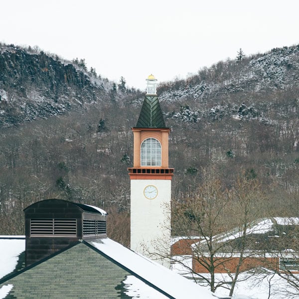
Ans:
POLYGON ((0 239, 0 279, 11 273, 18 261, 18 256, 25 250, 25 239, 20 236, 6 236, 0 239), (11 237, 15 237, 11 239, 11 237))

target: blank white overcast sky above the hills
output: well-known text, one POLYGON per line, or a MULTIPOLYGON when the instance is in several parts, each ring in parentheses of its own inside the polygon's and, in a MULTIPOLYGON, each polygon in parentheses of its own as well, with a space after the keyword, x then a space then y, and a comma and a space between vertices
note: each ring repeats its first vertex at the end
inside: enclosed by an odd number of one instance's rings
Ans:
POLYGON ((0 0, 0 41, 38 45, 129 87, 299 43, 298 0, 0 0))

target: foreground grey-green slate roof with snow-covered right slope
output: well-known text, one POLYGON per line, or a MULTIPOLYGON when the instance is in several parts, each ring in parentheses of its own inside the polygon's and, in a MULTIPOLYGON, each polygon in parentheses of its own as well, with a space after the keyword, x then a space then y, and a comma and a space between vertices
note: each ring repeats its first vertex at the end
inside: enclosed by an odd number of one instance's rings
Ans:
POLYGON ((214 297, 205 288, 109 238, 103 238, 78 241, 0 280, 0 298, 214 297))

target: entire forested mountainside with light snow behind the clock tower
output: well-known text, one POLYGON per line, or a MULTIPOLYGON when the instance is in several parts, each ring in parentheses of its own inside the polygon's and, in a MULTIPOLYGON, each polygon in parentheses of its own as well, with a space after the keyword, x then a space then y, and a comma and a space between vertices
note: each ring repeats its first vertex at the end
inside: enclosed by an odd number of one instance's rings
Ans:
MULTIPOLYGON (((131 127, 144 94, 52 56, 1 45, 0 234, 22 234, 22 209, 55 197, 106 209, 110 235, 128 245, 131 127)), ((213 169, 228 190, 240 176, 258 182, 267 200, 257 199, 255 216, 297 214, 299 46, 220 61, 161 83, 158 95, 173 203, 213 169)))

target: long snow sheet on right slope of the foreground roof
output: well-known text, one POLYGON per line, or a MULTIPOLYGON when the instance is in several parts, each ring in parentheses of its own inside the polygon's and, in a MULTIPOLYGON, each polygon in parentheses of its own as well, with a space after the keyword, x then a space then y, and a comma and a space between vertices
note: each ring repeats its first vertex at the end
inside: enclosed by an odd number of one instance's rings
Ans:
MULTIPOLYGON (((176 299, 214 299, 211 292, 196 283, 187 280, 150 259, 124 247, 123 245, 103 238, 89 242, 92 246, 122 264, 138 276, 176 299)), ((142 288, 133 286, 132 288, 142 288)), ((144 290, 139 289, 139 292, 144 290)), ((143 297, 144 298, 144 297, 143 297)), ((153 297, 155 298, 155 297, 153 297)))

